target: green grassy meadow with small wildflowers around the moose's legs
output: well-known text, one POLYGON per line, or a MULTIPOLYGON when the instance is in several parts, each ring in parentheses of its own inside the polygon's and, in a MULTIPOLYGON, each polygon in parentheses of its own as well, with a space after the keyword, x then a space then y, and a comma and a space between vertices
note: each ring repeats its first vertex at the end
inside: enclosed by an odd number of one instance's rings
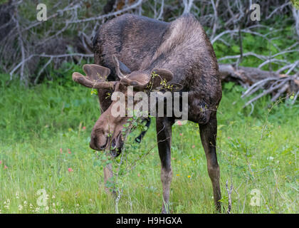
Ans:
MULTIPOLYGON (((94 152, 88 146, 99 116, 96 96, 73 82, 43 83, 27 89, 17 83, 6 86, 5 78, 1 75, 1 213, 114 213, 114 199, 103 186, 103 168, 95 165, 94 152), (47 207, 38 207, 37 192, 41 189, 48 194, 47 207)), ((218 112, 224 209, 228 180, 229 187, 234 185, 233 213, 298 213, 298 102, 293 107, 290 100, 278 104, 267 118, 265 107, 270 99, 263 98, 248 116, 251 108, 242 109, 246 101, 239 98, 242 90, 240 86, 224 86, 218 112), (260 207, 250 205, 254 189, 261 191, 260 207)), ((140 145, 130 145, 139 151, 154 147, 154 123, 140 145)), ((134 155, 129 151, 130 156, 134 155)), ((196 124, 174 126, 172 167, 171 212, 214 213, 196 124)), ((123 177, 121 213, 160 212, 159 172, 156 146, 123 177)))

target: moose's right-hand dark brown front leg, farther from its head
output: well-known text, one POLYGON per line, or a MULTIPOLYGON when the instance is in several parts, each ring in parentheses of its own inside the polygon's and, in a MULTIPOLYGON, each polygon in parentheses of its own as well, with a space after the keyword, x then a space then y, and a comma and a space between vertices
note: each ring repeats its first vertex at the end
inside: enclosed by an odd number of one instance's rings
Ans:
POLYGON ((208 167, 209 177, 213 186, 214 203, 216 210, 221 212, 221 190, 219 185, 220 169, 216 155, 216 134, 217 134, 217 119, 216 113, 211 115, 210 120, 205 125, 199 125, 201 143, 204 146, 206 153, 206 162, 208 167))

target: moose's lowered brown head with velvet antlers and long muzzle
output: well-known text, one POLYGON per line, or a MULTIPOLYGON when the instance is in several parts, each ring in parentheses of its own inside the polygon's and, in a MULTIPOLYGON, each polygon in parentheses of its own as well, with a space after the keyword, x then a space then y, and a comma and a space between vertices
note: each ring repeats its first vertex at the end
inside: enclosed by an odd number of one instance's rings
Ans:
MULTIPOLYGON (((128 86, 134 88, 133 95, 138 91, 150 92, 151 90, 157 90, 161 88, 161 85, 167 83, 167 88, 173 90, 179 89, 179 85, 176 83, 169 83, 172 81, 173 74, 164 68, 154 68, 152 71, 130 71, 127 66, 121 61, 118 61, 116 56, 112 56, 115 63, 115 71, 120 81, 107 81, 107 76, 110 74, 110 69, 104 66, 98 66, 95 64, 85 64, 83 71, 86 76, 75 72, 73 73, 73 81, 80 83, 88 88, 112 89, 115 92, 125 95, 123 104, 125 105, 125 115, 115 115, 115 103, 119 102, 119 99, 112 100, 109 108, 105 110, 100 118, 95 123, 91 137, 90 147, 93 150, 110 150, 111 154, 116 157, 120 155, 124 139, 122 132, 125 131, 124 125, 127 123, 129 117, 127 116, 127 100, 128 98, 128 86), (126 73, 122 73, 126 72, 126 73), (152 77, 154 73, 155 77, 152 77)), ((113 97, 113 94, 112 94, 113 97)), ((137 103, 137 101, 133 101, 137 103)))

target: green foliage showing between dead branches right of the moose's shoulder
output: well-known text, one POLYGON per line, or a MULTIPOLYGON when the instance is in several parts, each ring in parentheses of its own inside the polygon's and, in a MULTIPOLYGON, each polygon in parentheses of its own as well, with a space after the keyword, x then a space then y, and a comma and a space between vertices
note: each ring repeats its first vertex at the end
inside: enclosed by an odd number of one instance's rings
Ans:
MULTIPOLYGON (((254 29, 253 33, 242 32, 243 53, 252 52, 261 56, 274 56, 283 51, 285 48, 292 46, 296 42, 293 25, 285 24, 287 22, 281 21, 278 18, 276 18, 276 21, 278 22, 274 24, 274 28, 261 27, 254 29), (281 34, 283 34, 283 36, 281 36, 281 34)), ((226 44, 221 41, 216 41, 213 45, 216 57, 221 58, 224 56, 239 55, 240 46, 238 36, 230 38, 229 35, 226 35, 223 37, 226 42, 230 43, 230 46, 226 46, 226 44)), ((285 60, 293 63, 298 60, 298 51, 283 53, 275 58, 281 61, 285 60)), ((236 60, 237 58, 226 59, 219 62, 231 63, 236 62, 236 60)), ((240 66, 258 67, 264 61, 265 60, 259 59, 256 56, 243 56, 240 66)), ((285 63, 266 64, 266 66, 263 66, 262 69, 265 71, 277 71, 284 64, 285 63)), ((283 73, 286 73, 286 71, 283 71, 283 73)))

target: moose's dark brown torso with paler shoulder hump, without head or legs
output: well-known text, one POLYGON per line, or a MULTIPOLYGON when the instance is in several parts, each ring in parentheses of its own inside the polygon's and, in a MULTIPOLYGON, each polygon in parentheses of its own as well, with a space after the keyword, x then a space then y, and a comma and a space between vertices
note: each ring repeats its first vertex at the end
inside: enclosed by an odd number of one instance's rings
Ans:
MULTIPOLYGON (((110 68, 110 81, 117 79, 112 54, 131 71, 148 73, 153 68, 172 71, 173 81, 184 85, 183 90, 189 92, 189 117, 196 123, 206 123, 221 100, 221 81, 214 50, 191 14, 172 23, 132 14, 119 16, 99 29, 94 39, 94 51, 95 63, 110 68)), ((101 105, 108 107, 110 100, 103 100, 101 105)))

